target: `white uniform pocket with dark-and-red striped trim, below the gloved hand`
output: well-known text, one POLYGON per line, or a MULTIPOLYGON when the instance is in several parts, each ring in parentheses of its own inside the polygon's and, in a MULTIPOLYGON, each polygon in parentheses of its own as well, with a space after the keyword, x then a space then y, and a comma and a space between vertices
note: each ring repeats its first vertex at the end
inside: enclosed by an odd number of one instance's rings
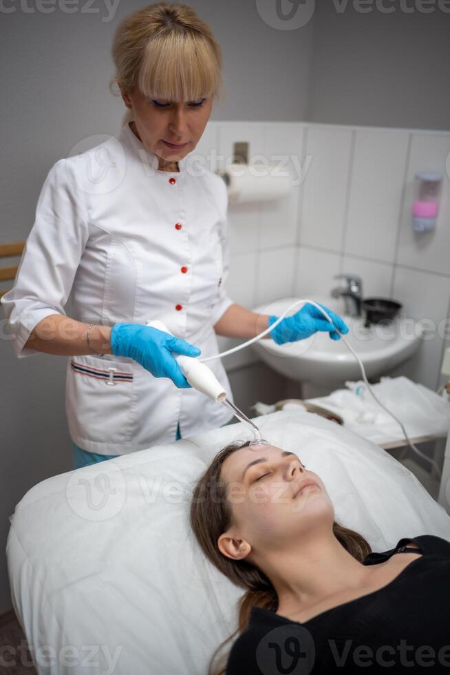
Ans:
POLYGON ((131 442, 134 364, 72 356, 66 410, 72 436, 103 444, 131 442))

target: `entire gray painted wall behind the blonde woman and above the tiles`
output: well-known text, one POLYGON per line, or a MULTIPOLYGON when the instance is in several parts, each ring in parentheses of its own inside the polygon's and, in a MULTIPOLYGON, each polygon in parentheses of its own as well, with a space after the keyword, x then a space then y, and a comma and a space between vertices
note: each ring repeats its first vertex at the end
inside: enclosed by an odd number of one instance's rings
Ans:
MULTIPOLYGON (((190 4, 210 23, 224 54, 226 96, 213 120, 448 128, 449 91, 437 74, 449 63, 448 15, 398 14, 389 21, 374 12, 336 17, 321 3, 303 28, 277 30, 261 19, 253 1, 190 4), (425 92, 420 96, 419 87, 425 92)), ((109 94, 109 48, 118 21, 144 3, 122 0, 111 21, 104 20, 103 1, 95 0, 89 12, 85 5, 80 0, 67 14, 56 0, 55 11, 43 14, 30 10, 32 3, 28 12, 19 2, 5 3, 14 11, 2 13, 0 28, 1 241, 28 236, 43 180, 56 160, 83 138, 118 130, 124 107, 109 94)), ((4 549, 15 504, 34 484, 70 470, 72 458, 64 413, 65 359, 17 360, 2 340, 0 368, 4 549)), ((234 373, 232 383, 237 403, 248 409, 255 401, 255 367, 234 373)), ((273 385, 275 399, 283 397, 283 383, 274 379, 273 385)), ((0 555, 0 612, 9 607, 6 559, 0 555)))

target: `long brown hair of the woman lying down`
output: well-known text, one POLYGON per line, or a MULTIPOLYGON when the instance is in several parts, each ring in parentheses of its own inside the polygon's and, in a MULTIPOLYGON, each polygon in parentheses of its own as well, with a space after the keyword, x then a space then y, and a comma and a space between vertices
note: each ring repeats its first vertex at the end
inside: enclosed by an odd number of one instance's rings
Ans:
MULTIPOLYGON (((197 480, 191 499, 189 519, 200 548, 217 570, 222 572, 230 581, 233 581, 234 584, 246 589, 242 598, 239 599, 237 630, 215 650, 209 665, 208 675, 224 675, 226 658, 222 657, 221 663, 213 668, 214 658, 217 652, 237 633, 244 632, 252 607, 262 607, 264 610, 274 612, 278 607, 277 593, 264 572, 245 559, 231 560, 224 556, 217 547, 217 540, 221 534, 226 532, 232 522, 231 505, 226 499, 227 486, 220 478, 220 470, 229 455, 240 448, 245 448, 249 443, 250 441, 246 443, 235 442, 222 448, 214 457, 211 465, 197 480)), ((363 562, 365 557, 372 552, 369 543, 361 534, 345 528, 337 521, 333 523, 333 533, 345 550, 360 562, 363 562)))

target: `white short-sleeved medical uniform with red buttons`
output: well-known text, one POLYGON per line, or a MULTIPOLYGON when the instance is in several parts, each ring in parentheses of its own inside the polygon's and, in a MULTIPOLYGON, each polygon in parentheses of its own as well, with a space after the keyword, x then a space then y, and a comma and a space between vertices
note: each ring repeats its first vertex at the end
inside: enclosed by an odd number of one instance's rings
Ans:
MULTIPOLYGON (((2 298, 18 357, 38 353, 25 342, 47 315, 65 314, 70 293, 78 321, 159 319, 201 357, 218 352, 213 325, 233 302, 224 291, 226 185, 195 152, 178 166, 158 170, 128 124, 52 166, 14 288, 2 298)), ((222 362, 208 366, 230 393, 222 362)), ((66 411, 73 441, 102 455, 174 441, 178 422, 186 437, 233 417, 194 388, 114 355, 69 357, 66 411)))

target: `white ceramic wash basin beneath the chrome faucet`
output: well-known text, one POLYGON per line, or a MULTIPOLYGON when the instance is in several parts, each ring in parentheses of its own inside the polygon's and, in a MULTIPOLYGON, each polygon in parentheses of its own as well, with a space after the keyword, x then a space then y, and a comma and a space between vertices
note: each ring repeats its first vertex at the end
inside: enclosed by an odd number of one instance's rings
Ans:
MULTIPOLYGON (((282 298, 261 305, 253 311, 279 316, 297 298, 282 298)), ((341 315, 349 332, 346 335, 354 351, 361 358, 367 377, 386 375, 394 366, 407 360, 418 349, 420 324, 416 320, 398 315, 390 324, 372 324, 365 327, 364 318, 344 314, 341 298, 316 299, 325 307, 341 315)), ((298 311, 301 306, 291 310, 298 311)), ((360 380, 361 369, 342 340, 331 340, 328 333, 315 333, 306 340, 276 344, 272 339, 253 343, 261 360, 281 375, 299 382, 334 382, 360 380)))

